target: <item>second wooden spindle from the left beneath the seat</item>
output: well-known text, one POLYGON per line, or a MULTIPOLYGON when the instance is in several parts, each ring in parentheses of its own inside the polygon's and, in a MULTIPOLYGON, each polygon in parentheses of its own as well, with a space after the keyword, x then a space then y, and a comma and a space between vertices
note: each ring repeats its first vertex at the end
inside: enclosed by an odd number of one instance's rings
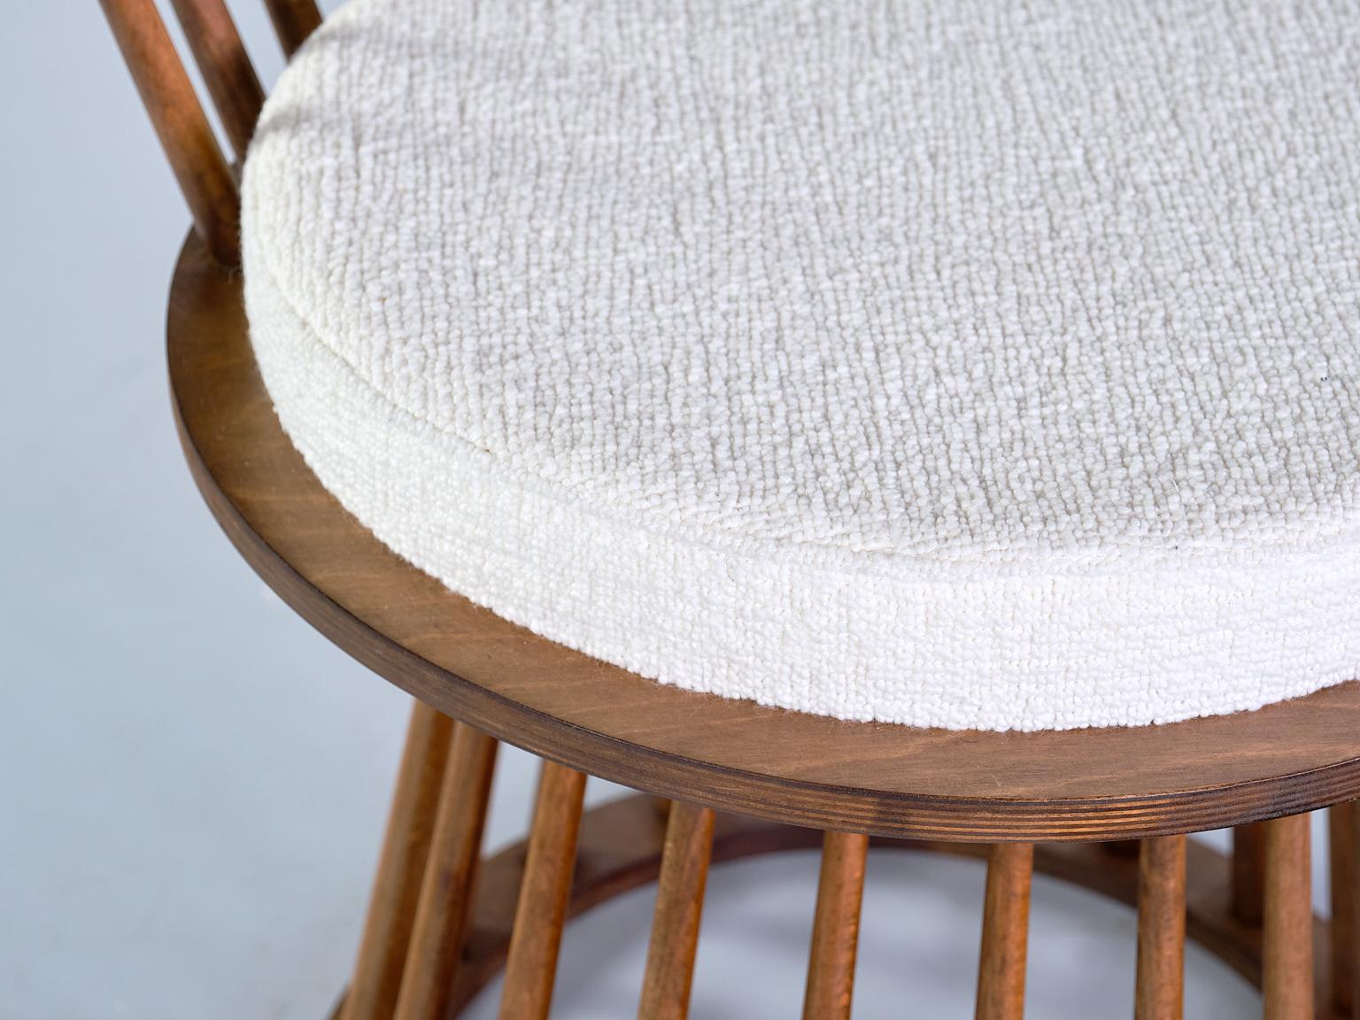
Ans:
POLYGON ((496 747, 466 724, 454 726, 396 1020, 442 1020, 447 1010, 481 857, 496 747))

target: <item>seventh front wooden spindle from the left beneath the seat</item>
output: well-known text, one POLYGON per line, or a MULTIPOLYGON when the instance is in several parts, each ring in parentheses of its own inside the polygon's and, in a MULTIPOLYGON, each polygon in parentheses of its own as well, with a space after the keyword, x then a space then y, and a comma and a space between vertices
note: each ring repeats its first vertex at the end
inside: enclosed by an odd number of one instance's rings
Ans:
POLYGON ((1142 840, 1136 1020, 1180 1020, 1185 1001, 1186 838, 1142 840))

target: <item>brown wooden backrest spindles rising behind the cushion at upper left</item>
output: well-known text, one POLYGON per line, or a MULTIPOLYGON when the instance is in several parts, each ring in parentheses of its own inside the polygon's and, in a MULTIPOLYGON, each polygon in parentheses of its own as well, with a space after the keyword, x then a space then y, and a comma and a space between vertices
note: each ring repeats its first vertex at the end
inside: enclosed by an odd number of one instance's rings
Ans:
MULTIPOLYGON (((264 90, 226 0, 171 0, 237 159, 245 156, 264 90)), ((316 0, 264 0, 286 56, 321 23, 316 0)), ((99 0, 174 170, 193 223, 223 265, 241 264, 241 196, 231 165, 180 61, 155 0, 99 0)))

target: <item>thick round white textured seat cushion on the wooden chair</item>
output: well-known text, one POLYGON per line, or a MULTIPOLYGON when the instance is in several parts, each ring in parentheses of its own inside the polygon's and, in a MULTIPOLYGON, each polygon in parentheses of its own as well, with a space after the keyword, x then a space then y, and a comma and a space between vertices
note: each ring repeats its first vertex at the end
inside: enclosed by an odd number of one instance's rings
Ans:
POLYGON ((1360 675, 1357 154, 1348 4, 355 0, 252 340, 384 543, 642 676, 1253 709, 1360 675))

